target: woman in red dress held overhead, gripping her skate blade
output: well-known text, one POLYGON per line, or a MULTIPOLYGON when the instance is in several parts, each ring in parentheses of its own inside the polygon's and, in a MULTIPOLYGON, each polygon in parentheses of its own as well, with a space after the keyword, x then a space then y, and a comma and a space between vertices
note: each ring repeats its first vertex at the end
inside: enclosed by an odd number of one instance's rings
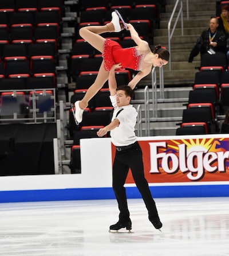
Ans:
POLYGON ((112 12, 112 21, 108 24, 103 26, 85 26, 80 29, 79 33, 85 41, 89 42, 90 45, 102 53, 103 60, 96 80, 92 86, 89 87, 84 98, 74 103, 74 117, 77 124, 82 121, 82 114, 84 113, 84 109, 88 106, 89 100, 97 94, 108 80, 109 70, 114 64, 121 63, 121 69, 131 68, 139 71, 128 84, 128 86, 133 89, 143 77, 151 72, 152 67, 166 65, 169 60, 168 50, 161 48, 161 45, 155 46, 151 52, 148 42, 139 37, 139 34, 137 34, 131 24, 127 24, 123 21, 123 18, 117 10, 112 12), (120 32, 124 28, 129 30, 131 38, 135 41, 137 46, 122 48, 116 41, 100 36, 100 34, 105 32, 120 32))

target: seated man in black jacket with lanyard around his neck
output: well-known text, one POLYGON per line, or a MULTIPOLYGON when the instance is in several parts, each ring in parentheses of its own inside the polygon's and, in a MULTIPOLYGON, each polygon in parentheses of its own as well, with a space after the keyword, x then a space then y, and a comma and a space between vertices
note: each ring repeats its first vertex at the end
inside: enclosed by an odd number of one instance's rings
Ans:
POLYGON ((216 52, 226 52, 226 36, 223 31, 218 29, 219 20, 214 17, 209 22, 209 28, 204 30, 198 38, 196 45, 192 48, 188 62, 191 63, 195 56, 200 52, 215 54, 216 52))

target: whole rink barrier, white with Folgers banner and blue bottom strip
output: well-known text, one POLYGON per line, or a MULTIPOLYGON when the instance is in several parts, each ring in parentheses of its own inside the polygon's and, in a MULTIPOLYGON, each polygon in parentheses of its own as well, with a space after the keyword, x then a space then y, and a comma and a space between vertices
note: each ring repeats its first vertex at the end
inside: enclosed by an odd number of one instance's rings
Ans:
MULTIPOLYGON (((229 196, 225 135, 139 138, 153 197, 229 196)), ((114 150, 110 138, 81 139, 81 173, 0 177, 0 202, 113 199, 114 150)), ((131 175, 126 187, 140 197, 131 175)))

